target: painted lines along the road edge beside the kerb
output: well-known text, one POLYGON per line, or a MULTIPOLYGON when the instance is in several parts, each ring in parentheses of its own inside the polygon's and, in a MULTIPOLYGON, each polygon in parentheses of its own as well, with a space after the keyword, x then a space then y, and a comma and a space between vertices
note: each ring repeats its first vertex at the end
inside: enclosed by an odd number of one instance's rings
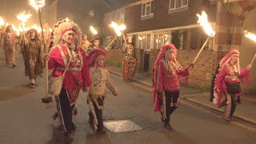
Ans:
MULTIPOLYGON (((112 74, 112 76, 114 76, 115 78, 122 79, 120 76, 117 76, 117 75, 114 75, 114 74, 112 74)), ((150 88, 148 88, 148 87, 146 87, 146 86, 142 86, 142 85, 140 85, 140 84, 138 84, 138 83, 136 83, 136 82, 130 82, 130 84, 133 84, 134 86, 139 86, 139 87, 141 87, 141 88, 144 89, 144 90, 149 90, 150 92, 152 92, 152 89, 150 89, 150 88)), ((190 106, 190 107, 193 107, 194 109, 201 110, 202 112, 204 112, 204 113, 206 113, 206 114, 211 114, 211 115, 213 115, 214 117, 222 118, 222 116, 220 116, 219 114, 214 114, 213 112, 211 112, 211 111, 209 111, 209 110, 204 110, 204 109, 202 109, 202 108, 200 108, 200 107, 198 107, 198 106, 194 106, 194 105, 190 104, 189 102, 185 102, 185 101, 183 101, 183 100, 181 100, 181 99, 180 99, 180 101, 181 101, 183 104, 185 104, 186 106, 190 106)), ((252 130, 252 131, 256 132, 256 128, 250 127, 250 126, 246 126, 246 125, 242 124, 241 122, 232 121, 232 122, 230 122, 230 123, 231 123, 231 124, 234 124, 234 125, 237 125, 237 126, 241 126, 241 127, 245 128, 245 129, 247 129, 247 130, 252 130)))

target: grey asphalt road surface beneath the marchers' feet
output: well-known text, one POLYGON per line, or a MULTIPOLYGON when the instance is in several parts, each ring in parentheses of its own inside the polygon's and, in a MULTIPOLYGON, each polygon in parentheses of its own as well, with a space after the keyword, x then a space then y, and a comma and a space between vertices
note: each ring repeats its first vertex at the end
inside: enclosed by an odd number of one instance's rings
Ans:
MULTIPOLYGON (((36 88, 30 89, 25 77, 21 54, 17 55, 17 67, 5 65, 3 51, 0 54, 0 144, 66 143, 58 129, 58 120, 52 120, 55 103, 44 104, 43 78, 38 78, 36 88)), ((74 116, 77 130, 72 143, 127 143, 127 144, 161 144, 161 143, 232 143, 253 144, 256 132, 225 122, 214 114, 206 113, 181 103, 174 111, 170 121, 174 130, 163 128, 160 115, 153 112, 153 103, 149 90, 134 84, 122 82, 113 77, 120 95, 114 97, 108 91, 103 119, 130 119, 143 130, 115 134, 106 130, 106 134, 94 134, 88 124, 88 106, 86 94, 80 93, 74 116)))

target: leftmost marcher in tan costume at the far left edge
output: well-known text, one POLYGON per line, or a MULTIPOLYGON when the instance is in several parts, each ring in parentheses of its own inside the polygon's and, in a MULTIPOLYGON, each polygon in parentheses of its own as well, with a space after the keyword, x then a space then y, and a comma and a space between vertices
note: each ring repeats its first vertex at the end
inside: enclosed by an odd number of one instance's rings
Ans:
POLYGON ((6 65, 16 66, 16 58, 15 58, 15 37, 16 34, 11 25, 7 26, 6 32, 4 34, 3 41, 3 50, 6 55, 6 65))

